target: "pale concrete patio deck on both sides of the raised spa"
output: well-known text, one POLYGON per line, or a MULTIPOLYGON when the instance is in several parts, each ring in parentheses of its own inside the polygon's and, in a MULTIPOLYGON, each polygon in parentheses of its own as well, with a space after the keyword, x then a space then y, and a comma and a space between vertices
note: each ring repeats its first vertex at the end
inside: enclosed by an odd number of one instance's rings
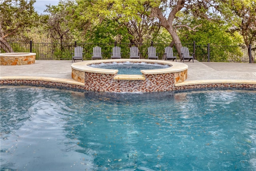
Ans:
MULTIPOLYGON (((180 61, 178 61, 180 62, 180 61)), ((32 65, 0 66, 0 79, 42 79, 81 85, 72 79, 71 60, 36 60, 32 65)), ((256 64, 188 62, 188 78, 178 85, 239 82, 256 84, 256 64)))

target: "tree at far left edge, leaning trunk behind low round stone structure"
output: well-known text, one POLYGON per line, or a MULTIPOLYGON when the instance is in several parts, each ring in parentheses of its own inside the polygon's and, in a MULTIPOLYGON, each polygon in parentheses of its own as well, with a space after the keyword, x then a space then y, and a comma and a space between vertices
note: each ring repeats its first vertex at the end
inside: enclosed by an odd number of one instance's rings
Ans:
MULTIPOLYGON (((7 43, 16 37, 26 39, 26 32, 38 21, 34 11, 35 0, 2 0, 0 6, 0 47, 5 52, 14 52, 7 43)), ((20 41, 20 40, 19 40, 20 41)))

